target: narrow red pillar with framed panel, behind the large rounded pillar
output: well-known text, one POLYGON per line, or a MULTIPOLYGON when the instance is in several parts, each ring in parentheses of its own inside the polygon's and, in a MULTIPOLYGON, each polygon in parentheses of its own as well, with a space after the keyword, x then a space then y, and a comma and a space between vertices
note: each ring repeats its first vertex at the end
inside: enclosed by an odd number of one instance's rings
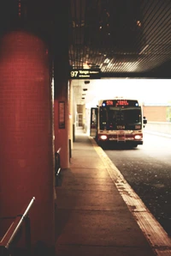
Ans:
POLYGON ((55 149, 62 148, 61 167, 69 168, 68 129, 68 0, 60 1, 56 9, 54 59, 54 124, 55 149), (63 125, 62 125, 63 123, 63 125))

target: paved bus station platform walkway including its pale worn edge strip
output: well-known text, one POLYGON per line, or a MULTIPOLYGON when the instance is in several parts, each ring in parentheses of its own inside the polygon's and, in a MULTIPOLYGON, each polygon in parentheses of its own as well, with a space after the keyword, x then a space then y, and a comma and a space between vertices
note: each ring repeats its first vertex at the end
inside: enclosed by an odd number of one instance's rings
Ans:
POLYGON ((171 255, 171 241, 93 138, 75 136, 56 186, 56 256, 171 255))

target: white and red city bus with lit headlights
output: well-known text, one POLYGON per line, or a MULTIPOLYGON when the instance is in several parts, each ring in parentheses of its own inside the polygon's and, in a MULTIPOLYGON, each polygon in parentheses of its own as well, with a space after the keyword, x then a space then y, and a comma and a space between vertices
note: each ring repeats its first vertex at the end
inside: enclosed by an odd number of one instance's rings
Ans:
POLYGON ((97 107, 91 107, 90 136, 95 137, 100 146, 107 143, 142 145, 146 124, 138 100, 114 98, 98 101, 97 107))

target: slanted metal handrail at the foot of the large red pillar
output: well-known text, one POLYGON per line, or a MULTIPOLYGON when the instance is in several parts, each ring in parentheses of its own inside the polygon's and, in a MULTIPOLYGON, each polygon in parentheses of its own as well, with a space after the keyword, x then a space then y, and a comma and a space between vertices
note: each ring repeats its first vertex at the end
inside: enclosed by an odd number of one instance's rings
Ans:
POLYGON ((1 217, 1 219, 15 218, 15 220, 12 222, 6 234, 3 235, 3 239, 0 241, 0 256, 13 256, 14 241, 21 230, 21 225, 23 222, 25 222, 26 225, 25 232, 27 253, 28 255, 31 254, 31 227, 28 213, 34 200, 35 198, 33 197, 27 207, 21 211, 21 214, 18 214, 15 217, 1 217))

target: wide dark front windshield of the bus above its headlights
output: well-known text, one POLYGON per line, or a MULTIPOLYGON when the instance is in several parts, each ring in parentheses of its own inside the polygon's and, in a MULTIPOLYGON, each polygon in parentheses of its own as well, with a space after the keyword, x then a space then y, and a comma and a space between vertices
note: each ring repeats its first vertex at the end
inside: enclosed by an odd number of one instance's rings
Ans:
POLYGON ((100 130, 142 129, 141 107, 100 107, 100 130))

